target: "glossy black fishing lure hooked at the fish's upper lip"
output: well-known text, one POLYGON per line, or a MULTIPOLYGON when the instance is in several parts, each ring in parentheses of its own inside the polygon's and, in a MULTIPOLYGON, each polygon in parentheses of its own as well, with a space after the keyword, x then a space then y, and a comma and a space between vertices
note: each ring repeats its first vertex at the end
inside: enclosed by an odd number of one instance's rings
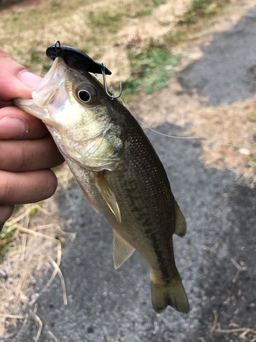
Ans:
MULTIPOLYGON (((82 68, 89 73, 102 74, 102 64, 92 60, 92 58, 86 55, 86 53, 83 53, 83 51, 74 49, 74 47, 69 47, 68 45, 50 45, 46 49, 46 56, 53 61, 55 61, 57 57, 62 57, 68 66, 82 68)), ((106 75, 111 75, 111 71, 106 67, 105 73, 106 75)))

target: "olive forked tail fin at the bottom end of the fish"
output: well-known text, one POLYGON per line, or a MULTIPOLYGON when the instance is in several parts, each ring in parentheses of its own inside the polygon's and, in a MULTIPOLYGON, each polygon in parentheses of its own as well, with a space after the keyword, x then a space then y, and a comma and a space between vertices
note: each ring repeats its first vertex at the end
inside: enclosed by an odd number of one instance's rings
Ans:
POLYGON ((156 284, 151 280, 152 304, 157 313, 164 311, 168 305, 181 313, 188 313, 189 304, 182 285, 179 272, 169 284, 156 284))

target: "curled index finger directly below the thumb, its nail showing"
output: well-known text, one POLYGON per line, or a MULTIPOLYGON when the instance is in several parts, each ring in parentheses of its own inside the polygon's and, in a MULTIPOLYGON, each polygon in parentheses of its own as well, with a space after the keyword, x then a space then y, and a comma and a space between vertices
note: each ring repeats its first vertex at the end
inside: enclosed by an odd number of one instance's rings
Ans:
POLYGON ((39 139, 47 135, 44 123, 18 107, 0 109, 0 140, 39 139))

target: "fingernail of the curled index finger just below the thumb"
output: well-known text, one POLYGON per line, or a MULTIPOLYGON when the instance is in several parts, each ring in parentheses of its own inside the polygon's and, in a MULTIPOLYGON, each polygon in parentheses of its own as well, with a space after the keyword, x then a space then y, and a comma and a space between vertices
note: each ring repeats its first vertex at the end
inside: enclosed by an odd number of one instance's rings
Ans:
POLYGON ((0 139, 13 139, 27 133, 27 124, 20 118, 6 116, 0 120, 0 139))

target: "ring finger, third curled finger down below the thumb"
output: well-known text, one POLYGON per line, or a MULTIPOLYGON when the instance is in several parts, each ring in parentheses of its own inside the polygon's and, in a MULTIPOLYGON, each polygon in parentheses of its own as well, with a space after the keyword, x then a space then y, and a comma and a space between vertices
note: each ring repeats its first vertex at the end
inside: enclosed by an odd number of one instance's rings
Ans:
POLYGON ((52 170, 0 171, 0 205, 34 203, 51 197, 57 188, 52 170))

